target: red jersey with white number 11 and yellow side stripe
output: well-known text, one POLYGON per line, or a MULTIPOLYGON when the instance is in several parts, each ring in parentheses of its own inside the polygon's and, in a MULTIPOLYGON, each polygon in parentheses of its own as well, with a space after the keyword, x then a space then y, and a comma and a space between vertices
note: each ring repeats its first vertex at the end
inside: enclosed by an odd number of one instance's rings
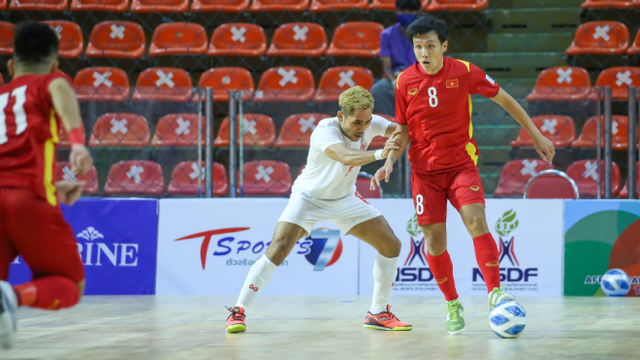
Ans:
POLYGON ((0 87, 0 188, 33 189, 51 205, 57 205, 53 184, 62 123, 49 84, 58 78, 72 84, 55 72, 19 76, 0 87))

